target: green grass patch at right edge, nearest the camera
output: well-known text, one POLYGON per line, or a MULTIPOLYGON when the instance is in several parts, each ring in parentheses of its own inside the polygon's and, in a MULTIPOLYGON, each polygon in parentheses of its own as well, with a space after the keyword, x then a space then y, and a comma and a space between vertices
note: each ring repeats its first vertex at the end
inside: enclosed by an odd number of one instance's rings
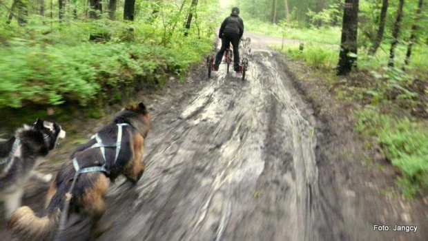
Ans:
POLYGON ((396 119, 378 114, 367 107, 355 112, 358 123, 356 131, 367 136, 376 136, 376 143, 391 163, 398 167, 402 176, 398 185, 405 196, 425 193, 428 188, 428 128, 408 118, 396 119))

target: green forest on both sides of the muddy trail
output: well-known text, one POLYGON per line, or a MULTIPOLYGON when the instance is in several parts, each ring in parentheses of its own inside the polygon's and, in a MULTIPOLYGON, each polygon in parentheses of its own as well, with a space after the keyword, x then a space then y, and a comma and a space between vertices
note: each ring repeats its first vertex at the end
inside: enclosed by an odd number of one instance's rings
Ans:
MULTIPOLYGON (((230 6, 240 8, 246 32, 281 37, 271 48, 356 103, 355 132, 400 169, 407 196, 427 189, 426 1, 230 6)), ((103 107, 171 76, 184 81, 213 52, 228 8, 215 0, 0 0, 0 109, 103 107)))

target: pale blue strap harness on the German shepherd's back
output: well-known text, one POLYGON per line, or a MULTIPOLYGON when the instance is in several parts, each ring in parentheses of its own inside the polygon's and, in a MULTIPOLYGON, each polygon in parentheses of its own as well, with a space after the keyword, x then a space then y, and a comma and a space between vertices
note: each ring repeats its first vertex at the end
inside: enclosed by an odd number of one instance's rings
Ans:
POLYGON ((121 146, 121 141, 122 141, 122 127, 129 125, 126 123, 121 123, 121 124, 117 124, 117 141, 114 144, 105 144, 103 143, 103 141, 101 140, 101 138, 99 137, 98 134, 95 134, 94 136, 91 137, 91 139, 97 140, 97 143, 95 143, 94 145, 90 146, 88 149, 93 149, 93 148, 99 148, 101 150, 101 154, 103 155, 104 158, 104 164, 99 167, 85 167, 80 169, 79 167, 79 163, 77 162, 77 158, 73 158, 72 160, 72 164, 75 167, 76 170, 76 174, 86 174, 88 172, 93 172, 93 171, 103 171, 106 174, 109 173, 109 171, 107 171, 106 169, 106 147, 116 147, 116 156, 115 156, 115 160, 113 162, 113 165, 115 165, 117 158, 119 158, 119 152, 120 152, 120 146, 121 146))

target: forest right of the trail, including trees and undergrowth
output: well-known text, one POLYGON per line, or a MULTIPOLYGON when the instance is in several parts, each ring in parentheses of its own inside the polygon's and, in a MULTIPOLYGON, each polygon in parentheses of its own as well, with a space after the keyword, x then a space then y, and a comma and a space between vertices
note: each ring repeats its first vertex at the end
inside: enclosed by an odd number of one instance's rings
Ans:
MULTIPOLYGON (((424 0, 237 0, 246 30, 295 39, 274 46, 315 68, 355 132, 398 167, 406 196, 428 187, 428 8, 424 0)), ((381 158, 381 159, 382 159, 381 158)), ((424 191, 425 190, 425 191, 424 191)), ((391 194, 391 193, 389 193, 391 194)))

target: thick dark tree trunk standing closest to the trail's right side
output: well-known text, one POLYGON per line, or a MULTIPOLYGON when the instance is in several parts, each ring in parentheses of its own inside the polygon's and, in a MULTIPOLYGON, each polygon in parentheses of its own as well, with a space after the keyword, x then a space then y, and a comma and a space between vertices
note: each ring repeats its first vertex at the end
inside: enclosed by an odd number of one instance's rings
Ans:
POLYGON ((359 0, 345 0, 342 39, 340 41, 338 75, 348 74, 357 59, 358 37, 358 3, 359 0))

